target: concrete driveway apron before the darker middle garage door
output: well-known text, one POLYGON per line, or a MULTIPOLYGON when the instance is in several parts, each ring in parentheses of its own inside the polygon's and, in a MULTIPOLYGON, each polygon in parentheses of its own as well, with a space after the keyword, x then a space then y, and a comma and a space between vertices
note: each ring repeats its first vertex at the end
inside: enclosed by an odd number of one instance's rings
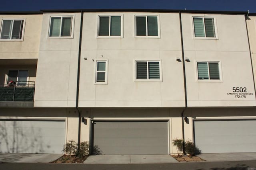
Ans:
POLYGON ((170 155, 90 155, 85 164, 154 164, 178 162, 170 155))

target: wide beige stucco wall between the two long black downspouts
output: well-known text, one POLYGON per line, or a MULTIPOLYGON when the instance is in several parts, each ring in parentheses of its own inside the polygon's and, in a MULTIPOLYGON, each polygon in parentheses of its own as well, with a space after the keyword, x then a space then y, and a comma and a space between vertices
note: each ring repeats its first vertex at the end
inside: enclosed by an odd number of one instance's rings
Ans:
POLYGON ((185 106, 178 14, 84 13, 83 24, 79 107, 185 106), (97 38, 98 15, 122 15, 123 38, 97 38), (135 38, 135 15, 158 16, 160 38, 135 38), (108 84, 94 84, 97 60, 108 61, 108 84), (162 82, 135 82, 135 60, 162 61, 162 82))

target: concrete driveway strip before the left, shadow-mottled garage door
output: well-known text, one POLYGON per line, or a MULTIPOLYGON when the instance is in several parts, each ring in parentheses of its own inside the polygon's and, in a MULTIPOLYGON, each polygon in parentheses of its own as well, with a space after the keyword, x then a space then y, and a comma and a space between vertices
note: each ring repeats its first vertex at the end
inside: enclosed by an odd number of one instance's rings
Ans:
POLYGON ((0 162, 48 163, 63 154, 0 153, 0 162))

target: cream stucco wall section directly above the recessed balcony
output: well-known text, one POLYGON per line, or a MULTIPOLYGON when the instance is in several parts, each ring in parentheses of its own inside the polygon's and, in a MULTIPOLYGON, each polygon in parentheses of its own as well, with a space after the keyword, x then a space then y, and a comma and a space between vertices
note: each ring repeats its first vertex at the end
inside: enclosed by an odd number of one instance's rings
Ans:
POLYGON ((25 19, 23 41, 1 41, 0 59, 38 59, 42 15, 0 15, 3 19, 25 19))

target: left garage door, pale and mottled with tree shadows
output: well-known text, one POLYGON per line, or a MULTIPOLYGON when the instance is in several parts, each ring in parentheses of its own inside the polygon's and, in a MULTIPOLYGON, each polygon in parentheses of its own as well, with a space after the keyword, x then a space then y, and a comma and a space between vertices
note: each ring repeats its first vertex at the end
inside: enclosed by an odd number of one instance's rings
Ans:
POLYGON ((64 120, 0 120, 0 152, 62 153, 64 120))

